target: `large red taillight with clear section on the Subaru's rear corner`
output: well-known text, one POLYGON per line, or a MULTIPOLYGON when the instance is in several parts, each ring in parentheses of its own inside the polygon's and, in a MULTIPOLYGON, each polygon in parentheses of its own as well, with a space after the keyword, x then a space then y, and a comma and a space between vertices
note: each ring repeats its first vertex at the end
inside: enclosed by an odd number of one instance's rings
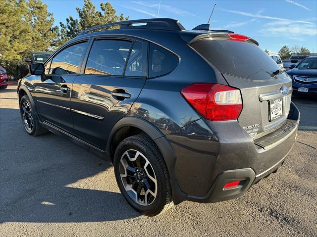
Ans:
POLYGON ((194 83, 181 94, 206 119, 237 119, 242 110, 240 91, 221 84, 194 83))

